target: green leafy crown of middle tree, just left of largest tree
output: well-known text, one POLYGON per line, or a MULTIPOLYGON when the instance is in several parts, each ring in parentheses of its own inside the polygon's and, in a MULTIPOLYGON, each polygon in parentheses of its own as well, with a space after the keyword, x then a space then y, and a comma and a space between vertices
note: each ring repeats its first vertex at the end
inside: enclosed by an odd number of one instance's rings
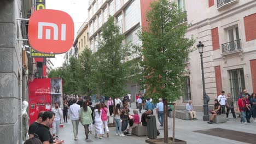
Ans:
POLYGON ((131 48, 123 45, 124 35, 110 16, 102 28, 102 38, 98 44, 98 51, 94 54, 94 81, 98 92, 108 97, 122 96, 129 74, 129 63, 125 58, 131 55, 131 48))

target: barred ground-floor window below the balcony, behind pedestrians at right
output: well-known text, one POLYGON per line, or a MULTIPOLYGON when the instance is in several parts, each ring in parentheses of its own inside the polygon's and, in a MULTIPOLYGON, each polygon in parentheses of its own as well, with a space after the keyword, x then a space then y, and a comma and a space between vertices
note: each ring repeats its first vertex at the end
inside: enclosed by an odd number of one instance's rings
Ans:
POLYGON ((238 92, 242 92, 243 89, 246 89, 245 74, 243 73, 243 69, 232 69, 229 70, 229 77, 231 94, 236 104, 238 100, 238 92))

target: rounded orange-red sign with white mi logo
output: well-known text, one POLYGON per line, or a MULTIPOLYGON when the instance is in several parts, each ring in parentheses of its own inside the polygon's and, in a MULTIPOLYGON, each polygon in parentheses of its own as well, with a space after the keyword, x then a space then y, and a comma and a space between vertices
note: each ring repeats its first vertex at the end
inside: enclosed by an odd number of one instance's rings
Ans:
POLYGON ((35 11, 28 24, 28 40, 34 50, 42 53, 65 53, 73 45, 74 23, 60 10, 35 11))

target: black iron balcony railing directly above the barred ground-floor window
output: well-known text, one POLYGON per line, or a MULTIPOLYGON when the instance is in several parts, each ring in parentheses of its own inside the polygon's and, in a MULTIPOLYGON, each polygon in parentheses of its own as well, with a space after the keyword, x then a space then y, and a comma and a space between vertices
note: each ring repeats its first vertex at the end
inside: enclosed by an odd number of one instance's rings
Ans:
POLYGON ((241 50, 241 39, 222 44, 222 53, 241 50))

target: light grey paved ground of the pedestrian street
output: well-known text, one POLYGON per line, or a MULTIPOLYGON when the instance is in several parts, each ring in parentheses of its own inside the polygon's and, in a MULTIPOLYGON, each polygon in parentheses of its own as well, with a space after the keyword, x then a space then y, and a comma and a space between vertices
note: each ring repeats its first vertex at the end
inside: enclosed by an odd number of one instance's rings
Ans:
MULTIPOLYGON (((136 108, 135 103, 132 103, 132 107, 130 107, 130 111, 132 112, 133 109, 136 108)), ((142 111, 144 112, 144 110, 142 111)), ((154 114, 155 114, 154 110, 154 114)), ((139 113, 139 116, 141 117, 142 113, 139 113)), ((230 118, 228 122, 226 123, 218 123, 218 124, 208 124, 207 122, 202 121, 202 112, 197 112, 197 118, 198 120, 182 120, 176 118, 176 131, 175 131, 175 138, 179 140, 184 140, 187 141, 187 143, 193 143, 193 144, 199 144, 199 143, 204 143, 204 144, 210 144, 210 143, 218 143, 218 144, 227 144, 227 143, 243 143, 239 141, 234 141, 230 139, 224 139, 222 137, 217 137, 217 136, 211 136, 211 135, 206 135, 202 133, 195 133, 195 130, 207 130, 207 129, 213 129, 213 128, 222 128, 222 129, 228 129, 228 130, 236 130, 237 133, 239 131, 242 132, 247 132, 247 133, 252 133, 256 134, 256 122, 251 122, 249 124, 241 124, 240 123, 240 118, 238 119, 233 119, 230 118)), ((232 117, 230 115, 230 117, 232 117)), ((251 119, 252 121, 252 119, 251 119)), ((173 118, 168 117, 168 136, 172 136, 172 122, 173 118)), ((110 122, 113 123, 113 117, 110 117, 110 122)), ((158 138, 163 138, 164 137, 164 129, 163 127, 160 127, 160 123, 158 122, 157 116, 156 116, 156 125, 158 127, 158 130, 160 131, 160 136, 158 138)), ((73 129, 72 129, 72 123, 70 120, 68 120, 68 123, 64 124, 63 128, 60 128, 60 139, 64 140, 65 143, 132 143, 132 144, 137 144, 137 143, 146 143, 145 140, 148 139, 147 136, 116 136, 115 135, 115 127, 109 128, 109 138, 107 137, 102 137, 102 139, 98 139, 94 137, 94 131, 92 135, 89 135, 89 141, 85 140, 85 133, 84 133, 84 127, 82 124, 79 123, 79 132, 78 132, 78 140, 74 140, 73 136, 73 129)), ((255 137, 255 142, 256 142, 256 137, 255 137)), ((252 142, 252 143, 255 143, 252 142)))

